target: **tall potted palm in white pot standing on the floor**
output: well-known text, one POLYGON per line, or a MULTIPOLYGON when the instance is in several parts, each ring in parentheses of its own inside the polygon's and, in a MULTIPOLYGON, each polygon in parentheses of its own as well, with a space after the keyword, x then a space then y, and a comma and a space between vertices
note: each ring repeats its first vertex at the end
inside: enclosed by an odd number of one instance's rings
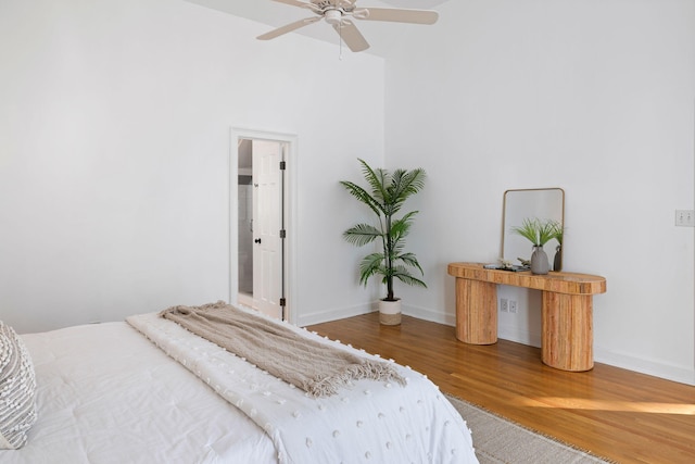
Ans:
POLYGON ((358 161, 370 191, 349 180, 341 180, 340 184, 359 202, 369 206, 377 216, 377 225, 357 224, 345 230, 343 238, 357 247, 375 240, 381 241, 381 251, 366 255, 359 263, 359 283, 366 287, 369 277, 381 276, 381 283, 387 286, 387 297, 381 302, 387 304, 383 310, 380 304, 379 321, 384 325, 399 325, 401 301, 394 296, 393 279, 426 288, 427 285, 410 274, 409 268, 415 267, 424 275, 422 267, 415 254, 404 251, 405 237, 418 212, 410 211, 400 218, 394 215, 401 211, 405 200, 425 187, 426 174, 420 167, 390 173, 382 168, 371 168, 364 160, 358 161))

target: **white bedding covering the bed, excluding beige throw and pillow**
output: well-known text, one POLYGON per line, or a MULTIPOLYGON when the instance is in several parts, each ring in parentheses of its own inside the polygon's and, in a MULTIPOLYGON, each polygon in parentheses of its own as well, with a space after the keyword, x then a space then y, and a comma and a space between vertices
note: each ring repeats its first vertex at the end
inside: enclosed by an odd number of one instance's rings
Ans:
POLYGON ((445 397, 392 362, 405 386, 356 379, 315 398, 157 313, 15 337, 35 372, 36 419, 2 463, 477 462, 445 397))

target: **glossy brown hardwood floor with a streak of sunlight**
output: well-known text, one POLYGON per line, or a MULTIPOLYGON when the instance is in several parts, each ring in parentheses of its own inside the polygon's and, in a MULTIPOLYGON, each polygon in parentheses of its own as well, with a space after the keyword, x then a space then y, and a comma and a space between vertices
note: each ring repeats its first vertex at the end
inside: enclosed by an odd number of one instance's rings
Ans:
MULTIPOLYGON (((460 397, 534 430, 620 463, 695 463, 695 387, 596 364, 545 366, 538 348, 472 346, 454 327, 377 313, 309 327, 426 374, 460 397)), ((473 432, 473 441, 476 430, 473 432)))

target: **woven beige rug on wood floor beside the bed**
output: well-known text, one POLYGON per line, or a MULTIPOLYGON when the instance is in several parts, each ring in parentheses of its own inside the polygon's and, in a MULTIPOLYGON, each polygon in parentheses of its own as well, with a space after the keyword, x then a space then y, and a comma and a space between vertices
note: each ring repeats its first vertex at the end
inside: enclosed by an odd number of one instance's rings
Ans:
POLYGON ((609 463, 552 438, 521 427, 464 400, 446 398, 468 424, 480 464, 609 463))

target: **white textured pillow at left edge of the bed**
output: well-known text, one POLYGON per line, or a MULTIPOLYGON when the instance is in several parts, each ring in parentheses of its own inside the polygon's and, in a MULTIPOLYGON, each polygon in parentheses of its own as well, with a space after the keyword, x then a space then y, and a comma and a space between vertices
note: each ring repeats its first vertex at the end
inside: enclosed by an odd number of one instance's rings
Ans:
POLYGON ((24 342, 0 321, 0 449, 16 450, 36 422, 36 376, 24 342))

